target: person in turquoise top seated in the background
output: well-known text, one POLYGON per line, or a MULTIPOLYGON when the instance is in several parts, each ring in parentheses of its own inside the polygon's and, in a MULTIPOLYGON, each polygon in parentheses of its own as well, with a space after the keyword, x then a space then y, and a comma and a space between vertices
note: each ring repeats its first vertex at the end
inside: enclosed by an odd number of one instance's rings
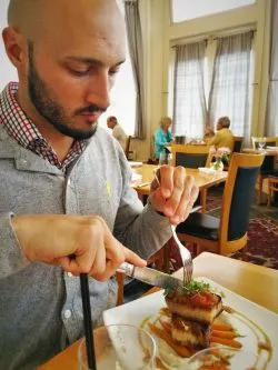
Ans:
POLYGON ((160 128, 155 132, 155 158, 159 160, 159 156, 165 151, 165 147, 175 141, 173 134, 169 130, 172 124, 170 117, 163 117, 160 120, 160 128))

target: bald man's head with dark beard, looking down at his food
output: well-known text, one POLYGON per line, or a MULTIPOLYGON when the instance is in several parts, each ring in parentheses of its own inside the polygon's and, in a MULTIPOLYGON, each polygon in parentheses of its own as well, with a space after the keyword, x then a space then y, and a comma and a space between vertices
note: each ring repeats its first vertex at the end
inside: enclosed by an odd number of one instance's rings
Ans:
POLYGON ((10 0, 8 22, 23 110, 44 134, 89 137, 126 57, 116 0, 10 0))

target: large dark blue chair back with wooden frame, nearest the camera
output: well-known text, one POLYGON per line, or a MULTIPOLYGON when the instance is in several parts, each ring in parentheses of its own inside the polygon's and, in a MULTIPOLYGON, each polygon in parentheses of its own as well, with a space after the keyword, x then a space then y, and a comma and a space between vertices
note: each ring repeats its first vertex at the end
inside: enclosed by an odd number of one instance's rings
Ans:
POLYGON ((232 252, 232 241, 247 232, 256 180, 264 159, 264 153, 234 153, 231 157, 220 219, 221 254, 232 252))

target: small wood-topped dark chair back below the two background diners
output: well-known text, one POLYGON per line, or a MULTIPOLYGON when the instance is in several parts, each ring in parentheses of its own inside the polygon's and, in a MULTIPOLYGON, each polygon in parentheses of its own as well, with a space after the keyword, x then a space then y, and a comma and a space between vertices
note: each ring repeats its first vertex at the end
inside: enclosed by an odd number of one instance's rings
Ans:
POLYGON ((212 147, 172 144, 173 166, 183 166, 187 168, 209 167, 212 158, 212 147))

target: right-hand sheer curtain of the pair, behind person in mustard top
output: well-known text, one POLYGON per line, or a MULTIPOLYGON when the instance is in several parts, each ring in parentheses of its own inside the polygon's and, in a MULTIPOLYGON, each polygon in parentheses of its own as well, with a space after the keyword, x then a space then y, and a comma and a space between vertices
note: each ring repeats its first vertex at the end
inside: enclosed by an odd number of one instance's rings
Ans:
POLYGON ((252 32, 219 38, 209 93, 209 126, 228 116, 235 136, 250 137, 250 58, 252 32))

